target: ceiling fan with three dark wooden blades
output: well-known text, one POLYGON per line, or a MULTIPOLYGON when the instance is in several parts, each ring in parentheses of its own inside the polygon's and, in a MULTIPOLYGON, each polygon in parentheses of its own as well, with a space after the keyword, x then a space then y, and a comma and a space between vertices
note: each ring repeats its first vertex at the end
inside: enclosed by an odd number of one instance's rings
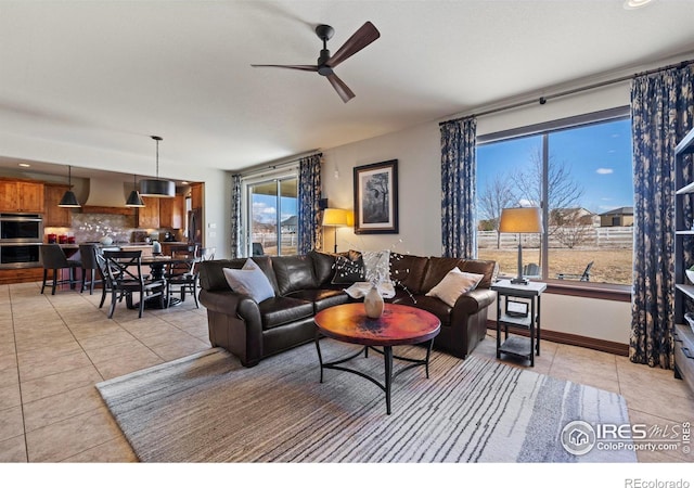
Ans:
POLYGON ((367 46, 378 39, 381 33, 371 22, 362 25, 347 41, 331 56, 327 50, 327 41, 335 34, 330 25, 321 24, 316 27, 316 35, 323 41, 323 49, 316 65, 311 64, 252 64, 253 67, 281 67, 287 69, 299 69, 303 72, 318 72, 319 75, 327 78, 343 102, 347 103, 355 98, 355 93, 345 82, 335 75, 333 68, 339 63, 351 57, 367 46))

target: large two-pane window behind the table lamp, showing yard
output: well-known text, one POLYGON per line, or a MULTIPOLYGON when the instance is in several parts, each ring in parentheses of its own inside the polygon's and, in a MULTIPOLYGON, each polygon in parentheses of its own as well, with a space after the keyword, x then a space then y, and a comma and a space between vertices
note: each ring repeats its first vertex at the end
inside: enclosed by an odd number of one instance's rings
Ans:
POLYGON ((478 257, 542 280, 631 284, 631 123, 627 110, 480 137, 478 257), (542 208, 544 233, 499 234, 501 209, 542 208))

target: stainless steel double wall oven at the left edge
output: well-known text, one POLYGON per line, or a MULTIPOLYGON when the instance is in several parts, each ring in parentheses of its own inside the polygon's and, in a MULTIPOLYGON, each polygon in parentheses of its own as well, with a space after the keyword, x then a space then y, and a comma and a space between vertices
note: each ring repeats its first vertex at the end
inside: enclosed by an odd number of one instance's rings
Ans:
POLYGON ((40 214, 0 214, 0 269, 41 266, 40 214))

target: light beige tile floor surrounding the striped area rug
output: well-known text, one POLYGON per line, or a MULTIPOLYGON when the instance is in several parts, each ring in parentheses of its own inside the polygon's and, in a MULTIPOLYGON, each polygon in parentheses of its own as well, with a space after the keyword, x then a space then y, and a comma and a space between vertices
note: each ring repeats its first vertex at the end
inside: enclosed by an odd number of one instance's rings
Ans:
MULTIPOLYGON (((205 309, 189 298, 138 319, 123 304, 110 320, 100 291, 39 291, 38 283, 0 285, 0 462, 137 461, 94 384, 209 348, 205 309)), ((536 372, 621 394, 632 423, 694 421, 694 396, 671 371, 544 341, 541 347, 536 372)), ((496 359, 492 331, 475 354, 496 359)), ((638 455, 694 461, 681 451, 638 455)))

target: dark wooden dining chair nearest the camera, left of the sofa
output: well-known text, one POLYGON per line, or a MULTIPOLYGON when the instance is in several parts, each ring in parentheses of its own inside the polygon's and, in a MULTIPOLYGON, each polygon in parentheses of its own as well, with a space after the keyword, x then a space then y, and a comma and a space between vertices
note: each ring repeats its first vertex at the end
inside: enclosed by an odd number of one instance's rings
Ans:
POLYGON ((111 308, 108 318, 113 318, 116 303, 126 299, 128 308, 134 308, 132 295, 140 294, 139 318, 142 318, 147 299, 158 297, 164 308, 166 280, 145 280, 142 274, 142 251, 104 251, 105 271, 111 287, 111 308))

